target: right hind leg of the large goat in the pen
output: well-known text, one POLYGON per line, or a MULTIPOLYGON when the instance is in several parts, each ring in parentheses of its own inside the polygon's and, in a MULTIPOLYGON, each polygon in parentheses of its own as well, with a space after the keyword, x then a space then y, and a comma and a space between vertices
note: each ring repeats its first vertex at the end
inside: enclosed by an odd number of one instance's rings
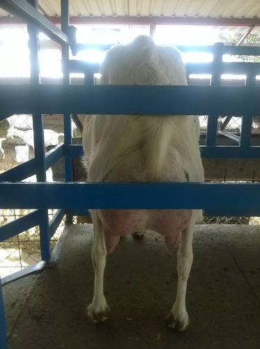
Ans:
POLYGON ((190 269, 192 267, 193 253, 192 253, 192 237, 193 237, 194 223, 193 219, 188 225, 188 228, 181 232, 181 245, 178 250, 177 260, 177 272, 178 272, 178 285, 177 295, 174 306, 172 307, 169 315, 167 316, 167 322, 171 329, 177 329, 178 331, 184 331, 189 324, 189 316, 185 306, 185 296, 187 290, 187 282, 190 275, 190 269))

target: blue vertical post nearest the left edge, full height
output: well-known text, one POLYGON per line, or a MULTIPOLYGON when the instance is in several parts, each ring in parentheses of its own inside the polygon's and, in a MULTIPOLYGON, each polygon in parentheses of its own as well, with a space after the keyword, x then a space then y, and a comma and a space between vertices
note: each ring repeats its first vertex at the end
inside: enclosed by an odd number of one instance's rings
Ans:
MULTIPOLYGON (((38 0, 29 0, 29 3, 38 8, 38 0)), ((38 30, 28 26, 29 34, 29 52, 31 66, 31 84, 40 84, 40 67, 38 61, 38 30)), ((34 138, 34 156, 36 163, 37 181, 46 181, 45 173, 45 142, 43 132, 43 115, 33 114, 33 138, 34 138)), ((41 200, 41 198, 39 198, 41 200)), ((40 228, 40 253, 42 260, 48 260, 49 251, 49 220, 47 209, 38 211, 39 228, 40 228)))

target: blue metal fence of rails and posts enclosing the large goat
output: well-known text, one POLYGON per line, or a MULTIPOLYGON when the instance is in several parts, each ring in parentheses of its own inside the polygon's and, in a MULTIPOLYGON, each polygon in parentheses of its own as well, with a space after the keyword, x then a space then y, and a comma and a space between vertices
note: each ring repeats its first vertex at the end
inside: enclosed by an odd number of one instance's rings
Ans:
MULTIPOLYGON (((6 1, 3 1, 7 3, 6 1)), ((17 2, 17 1, 14 1, 17 2)), ((49 259, 49 239, 65 214, 86 214, 95 208, 204 209, 205 214, 225 216, 260 215, 260 184, 73 184, 72 157, 82 155, 82 145, 72 145, 70 114, 199 114, 209 115, 206 144, 201 146, 204 158, 260 158, 260 144, 251 143, 252 118, 260 115, 259 63, 226 63, 223 54, 253 54, 260 56, 259 47, 213 45, 179 47, 183 52, 211 52, 213 62, 188 64, 188 74, 211 74, 208 87, 188 86, 94 86, 70 85, 69 73, 83 72, 85 82, 93 82, 97 64, 68 60, 68 1, 61 2, 63 32, 52 30, 52 37, 63 43, 63 85, 42 85, 38 80, 37 31, 29 29, 31 38, 31 84, 0 85, 0 121, 10 114, 33 114, 35 158, 0 174, 1 208, 28 208, 36 211, 3 225, 0 241, 40 225, 42 259, 49 259), (56 32, 54 32, 56 31, 56 32), (64 35, 63 35, 64 34, 64 35), (34 62, 34 63, 33 63, 34 62), (245 74, 245 87, 224 87, 221 75, 245 74), (43 114, 64 114, 64 144, 45 154, 43 144, 43 114), (221 115, 243 116, 243 124, 234 146, 217 146, 217 118, 221 115), (65 161, 65 183, 45 182, 45 172, 56 161, 65 161), (38 183, 20 183, 32 174, 38 183), (58 209, 48 221, 47 209, 58 209)), ((17 2, 17 6, 22 6, 17 2)), ((10 9, 11 11, 12 9, 10 9)), ((17 10, 17 9, 16 9, 17 10)), ((22 7, 18 12, 22 11, 22 7)), ((33 9, 29 7, 33 17, 33 9)), ((31 18, 30 17, 30 18, 31 18)), ((36 18, 34 16, 33 18, 36 18)), ((38 18, 38 17, 37 17, 38 18)), ((36 18, 36 20, 38 20, 36 18)), ((46 19, 45 19, 46 20, 46 19)), ((41 25, 46 27, 45 20, 41 25)), ((40 20, 38 20, 40 21, 40 20)), ((77 43, 73 52, 86 49, 77 43)), ((107 49, 107 47, 102 47, 107 49)), ((40 267, 44 267, 42 263, 40 267)), ((36 268, 38 270, 38 268, 36 268)), ((31 272, 31 269, 29 270, 31 272)), ((15 277, 26 274, 22 272, 15 277)), ((3 279, 2 283, 12 278, 3 279)), ((0 348, 6 348, 3 299, 0 290, 0 348)))

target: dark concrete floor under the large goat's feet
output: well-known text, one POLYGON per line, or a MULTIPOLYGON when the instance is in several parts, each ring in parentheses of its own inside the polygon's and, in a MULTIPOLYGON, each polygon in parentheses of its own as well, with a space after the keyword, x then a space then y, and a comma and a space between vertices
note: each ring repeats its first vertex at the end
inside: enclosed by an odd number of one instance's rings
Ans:
POLYGON ((176 248, 167 253, 153 232, 121 239, 108 256, 111 313, 91 324, 91 245, 92 225, 71 225, 53 269, 3 286, 9 349, 260 348, 259 225, 197 225, 183 333, 165 322, 176 291, 176 248))

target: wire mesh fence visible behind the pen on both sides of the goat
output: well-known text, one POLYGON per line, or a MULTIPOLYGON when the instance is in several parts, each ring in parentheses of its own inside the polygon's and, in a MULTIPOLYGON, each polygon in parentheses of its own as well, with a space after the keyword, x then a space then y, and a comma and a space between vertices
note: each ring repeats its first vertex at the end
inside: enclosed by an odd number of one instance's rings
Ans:
MULTIPOLYGON (((34 157, 32 117, 31 115, 20 115, 19 117, 20 119, 11 117, 9 121, 0 121, 0 173, 10 170, 10 168, 34 157)), ((82 121, 83 119, 84 116, 82 116, 82 121)), ((208 116, 199 117, 199 121, 201 132, 206 131, 208 116)), ((222 127, 224 121, 225 117, 219 117, 218 130, 222 127)), ((241 117, 232 117, 225 126, 226 131, 240 133, 241 121, 241 117)), ((45 130, 47 130, 47 133, 45 132, 44 135, 45 151, 48 151, 51 147, 63 141, 63 134, 61 134, 63 131, 62 116, 47 116, 45 118, 44 127, 45 130)), ((260 133, 260 117, 254 117, 252 122, 252 133, 260 133)), ((81 136, 73 123, 72 136, 77 139, 80 139, 81 136)), ((61 172, 63 172, 63 170, 61 170, 61 172)), ((26 179, 26 181, 36 181, 34 177, 26 179)), ((53 181, 53 177, 52 169, 48 170, 47 181, 53 181)), ((77 178, 75 180, 77 180, 77 178)), ((28 213, 29 210, 1 209, 0 207, 0 226, 28 213)), ((49 210, 49 220, 54 213, 55 210, 49 210)), ((73 223, 84 223, 84 220, 82 221, 75 218, 73 223)), ((59 239, 64 224, 64 221, 62 221, 54 237, 52 237, 50 242, 51 249, 59 239)), ((204 217, 201 224, 259 225, 260 217, 204 217)), ((40 259, 40 234, 38 226, 0 243, 1 277, 13 274, 29 265, 40 262, 40 259)))

